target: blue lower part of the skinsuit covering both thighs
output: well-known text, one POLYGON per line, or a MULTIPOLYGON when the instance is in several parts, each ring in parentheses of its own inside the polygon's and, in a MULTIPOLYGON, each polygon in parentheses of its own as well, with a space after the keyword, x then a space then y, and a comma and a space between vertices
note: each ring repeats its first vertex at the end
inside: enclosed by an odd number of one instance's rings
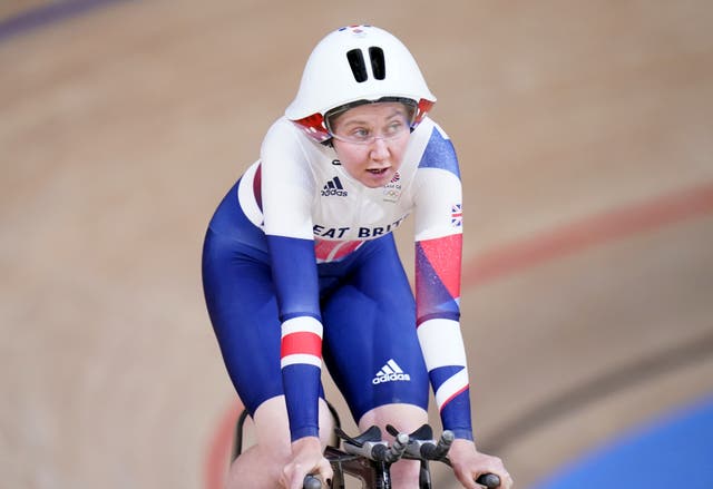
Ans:
MULTIPOLYGON (((228 193, 206 234, 203 285, 228 374, 253 414, 264 401, 283 394, 281 323, 265 236, 243 215, 234 195, 234 189, 228 193)), ((416 303, 393 236, 315 266, 324 364, 354 420, 394 402, 427 409, 428 372, 416 303)))

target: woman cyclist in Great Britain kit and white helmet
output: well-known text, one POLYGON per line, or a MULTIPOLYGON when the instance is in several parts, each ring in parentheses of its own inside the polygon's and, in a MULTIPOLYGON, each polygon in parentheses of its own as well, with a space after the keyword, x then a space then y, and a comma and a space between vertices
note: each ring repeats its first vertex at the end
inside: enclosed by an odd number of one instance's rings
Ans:
MULTIPOLYGON (((461 184, 431 94, 391 33, 350 26, 306 62, 260 159, 217 207, 204 243, 208 313, 257 443, 229 487, 302 487, 332 477, 320 431, 322 362, 360 429, 427 422, 429 380, 456 440, 455 473, 511 479, 472 441, 459 326, 461 184), (416 296, 392 232, 414 214, 416 296)), ((392 467, 418 487, 418 462, 392 467)))

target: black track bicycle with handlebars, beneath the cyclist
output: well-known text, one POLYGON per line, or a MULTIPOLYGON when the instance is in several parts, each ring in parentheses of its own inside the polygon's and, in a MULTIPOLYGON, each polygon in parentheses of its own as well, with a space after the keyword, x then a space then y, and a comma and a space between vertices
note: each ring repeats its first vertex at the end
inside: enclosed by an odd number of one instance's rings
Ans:
MULTIPOLYGON (((430 462, 438 461, 450 467, 448 450, 453 441, 453 433, 446 430, 437 441, 429 424, 423 424, 414 432, 400 433, 388 426, 387 430, 394 437, 392 443, 383 441, 381 429, 371 427, 355 438, 349 437, 342 429, 336 410, 328 402, 334 420, 335 446, 328 446, 325 458, 330 461, 334 476, 332 489, 344 489, 345 476, 361 481, 362 489, 391 489, 390 467, 400 459, 419 460, 419 489, 431 489, 430 462), (339 448, 343 446, 343 450, 339 448)), ((243 427, 247 412, 243 411, 235 426, 233 452, 231 461, 242 452, 243 427)), ((477 483, 487 489, 500 487, 500 479, 494 473, 480 476, 477 483)), ((322 482, 314 476, 306 476, 304 489, 320 489, 322 482)))

